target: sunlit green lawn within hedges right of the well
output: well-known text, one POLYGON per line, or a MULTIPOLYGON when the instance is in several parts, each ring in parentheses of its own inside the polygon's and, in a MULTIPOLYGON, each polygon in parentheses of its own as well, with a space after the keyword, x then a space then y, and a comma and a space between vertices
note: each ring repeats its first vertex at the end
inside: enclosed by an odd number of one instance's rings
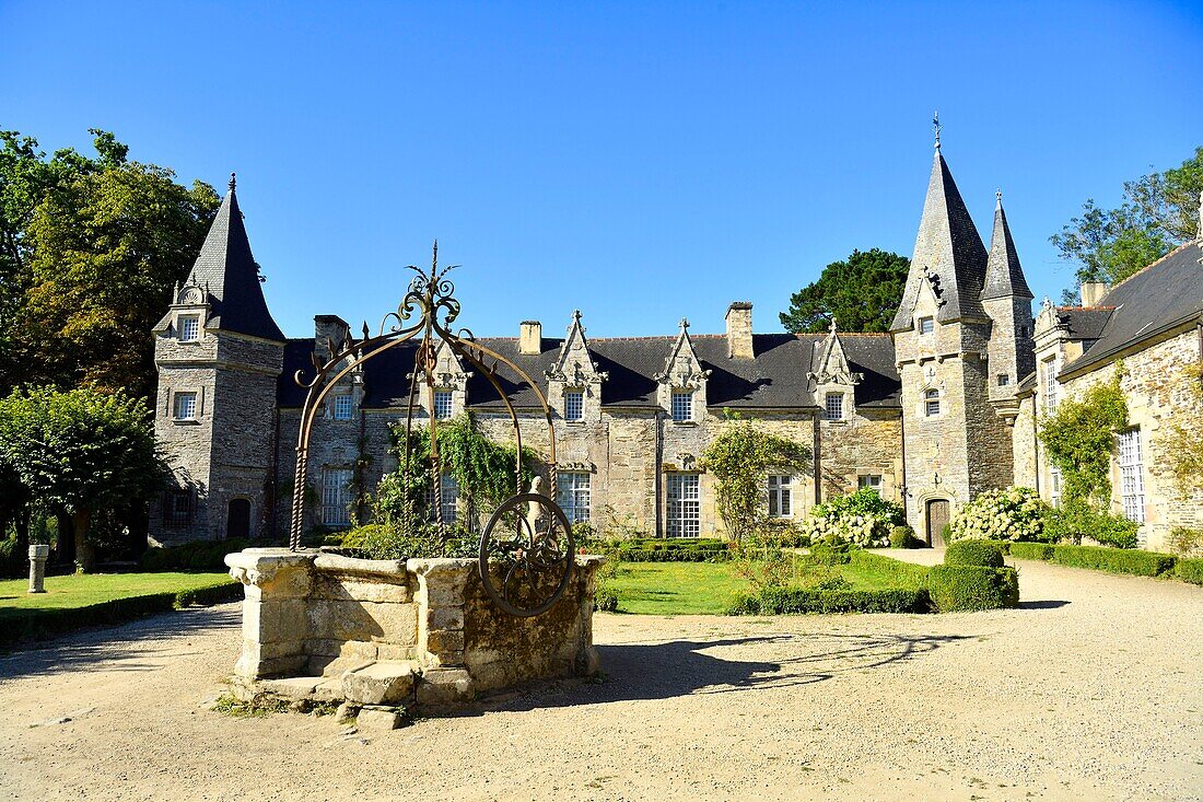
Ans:
MULTIPOLYGON (((855 590, 908 585, 870 566, 837 570, 855 590)), ((642 615, 723 615, 733 595, 752 588, 730 562, 623 562, 611 586, 618 591, 620 613, 642 615)))

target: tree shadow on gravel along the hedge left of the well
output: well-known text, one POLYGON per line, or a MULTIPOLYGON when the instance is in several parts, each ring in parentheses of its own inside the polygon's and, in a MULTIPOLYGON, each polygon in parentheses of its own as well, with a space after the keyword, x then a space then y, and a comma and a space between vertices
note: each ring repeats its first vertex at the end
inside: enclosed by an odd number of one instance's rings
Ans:
MULTIPOLYGON (((242 625, 242 606, 189 608, 117 626, 94 627, 63 635, 49 641, 28 641, 0 651, 0 679, 29 674, 53 674, 105 666, 106 671, 154 671, 178 657, 164 655, 165 647, 178 645, 197 630, 242 625), (142 643, 155 639, 150 647, 142 643)), ((231 656, 230 665, 233 666, 231 656)))

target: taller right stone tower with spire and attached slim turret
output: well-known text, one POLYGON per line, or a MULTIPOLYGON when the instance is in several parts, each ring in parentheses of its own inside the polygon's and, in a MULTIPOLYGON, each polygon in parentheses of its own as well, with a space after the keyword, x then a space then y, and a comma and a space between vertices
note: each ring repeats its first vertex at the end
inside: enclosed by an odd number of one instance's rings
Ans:
POLYGON ((1007 373, 1013 389, 1020 365, 1030 364, 1030 347, 1021 353, 1018 335, 1026 326, 1030 337, 1031 312, 1024 317, 1020 307, 1031 293, 1006 218, 998 219, 994 258, 937 138, 911 272, 890 326, 902 379, 907 519, 932 544, 961 505, 1012 482, 1009 429, 991 403, 994 375, 1007 373))

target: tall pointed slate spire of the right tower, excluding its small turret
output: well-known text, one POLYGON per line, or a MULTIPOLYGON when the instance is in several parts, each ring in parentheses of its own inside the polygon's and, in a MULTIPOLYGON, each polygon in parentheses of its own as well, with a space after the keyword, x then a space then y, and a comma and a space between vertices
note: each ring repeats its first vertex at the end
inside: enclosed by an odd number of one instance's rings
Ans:
POLYGON ((985 246, 973 225, 973 218, 965 207, 944 157, 937 149, 931 165, 928 196, 923 204, 919 234, 914 241, 911 272, 890 329, 902 331, 911 328, 919 288, 926 281, 924 269, 940 282, 943 303, 936 313, 937 320, 986 319, 980 300, 986 260, 985 246))

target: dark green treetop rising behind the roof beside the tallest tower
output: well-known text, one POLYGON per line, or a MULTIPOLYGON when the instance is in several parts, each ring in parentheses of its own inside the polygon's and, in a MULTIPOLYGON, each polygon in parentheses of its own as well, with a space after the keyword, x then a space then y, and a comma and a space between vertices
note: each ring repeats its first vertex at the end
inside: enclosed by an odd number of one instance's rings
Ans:
POLYGON ((853 250, 789 297, 781 324, 792 334, 819 332, 835 317, 841 331, 889 331, 909 267, 911 260, 896 253, 853 250))

